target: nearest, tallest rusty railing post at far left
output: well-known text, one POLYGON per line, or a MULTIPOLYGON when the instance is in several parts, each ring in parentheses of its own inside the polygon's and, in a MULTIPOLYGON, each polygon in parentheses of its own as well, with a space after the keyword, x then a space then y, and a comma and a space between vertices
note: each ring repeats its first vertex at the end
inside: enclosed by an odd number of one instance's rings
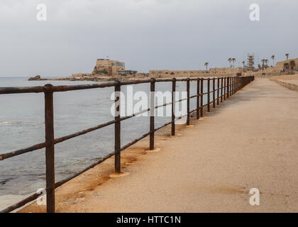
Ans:
POLYGON ((53 85, 45 84, 45 179, 47 212, 55 213, 55 147, 53 85))

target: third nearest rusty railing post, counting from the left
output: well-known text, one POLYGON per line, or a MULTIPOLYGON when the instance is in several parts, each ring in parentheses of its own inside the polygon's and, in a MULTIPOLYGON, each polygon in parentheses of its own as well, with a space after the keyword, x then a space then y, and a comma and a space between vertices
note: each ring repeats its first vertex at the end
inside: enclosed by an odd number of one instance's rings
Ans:
POLYGON ((154 150, 155 79, 150 82, 150 150, 154 150))

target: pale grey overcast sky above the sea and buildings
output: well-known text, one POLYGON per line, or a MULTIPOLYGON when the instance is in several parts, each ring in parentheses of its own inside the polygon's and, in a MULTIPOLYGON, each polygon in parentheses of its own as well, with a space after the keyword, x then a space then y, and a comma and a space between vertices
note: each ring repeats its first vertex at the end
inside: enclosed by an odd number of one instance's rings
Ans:
POLYGON ((298 57, 297 12, 297 0, 1 0, 0 76, 90 73, 107 56, 141 72, 241 66, 248 52, 271 65, 298 57))

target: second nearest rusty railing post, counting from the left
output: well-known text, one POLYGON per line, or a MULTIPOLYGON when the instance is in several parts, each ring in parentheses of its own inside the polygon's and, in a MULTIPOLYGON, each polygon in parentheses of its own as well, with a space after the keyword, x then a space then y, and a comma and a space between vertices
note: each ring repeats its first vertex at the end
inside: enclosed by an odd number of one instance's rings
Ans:
POLYGON ((121 105, 121 83, 116 81, 115 85, 115 172, 121 172, 121 121, 120 121, 120 105, 121 105))

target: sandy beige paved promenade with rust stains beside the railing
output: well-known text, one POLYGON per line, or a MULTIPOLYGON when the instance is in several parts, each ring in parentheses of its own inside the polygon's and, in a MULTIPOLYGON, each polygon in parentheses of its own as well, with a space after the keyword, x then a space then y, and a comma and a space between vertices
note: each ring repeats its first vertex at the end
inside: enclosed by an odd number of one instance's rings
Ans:
MULTIPOLYGON (((297 212, 298 93, 257 79, 182 136, 160 132, 123 152, 125 177, 106 162, 56 190, 57 212, 297 212), (260 190, 260 206, 249 203, 260 190)), ((31 204, 22 211, 42 212, 31 204)))

